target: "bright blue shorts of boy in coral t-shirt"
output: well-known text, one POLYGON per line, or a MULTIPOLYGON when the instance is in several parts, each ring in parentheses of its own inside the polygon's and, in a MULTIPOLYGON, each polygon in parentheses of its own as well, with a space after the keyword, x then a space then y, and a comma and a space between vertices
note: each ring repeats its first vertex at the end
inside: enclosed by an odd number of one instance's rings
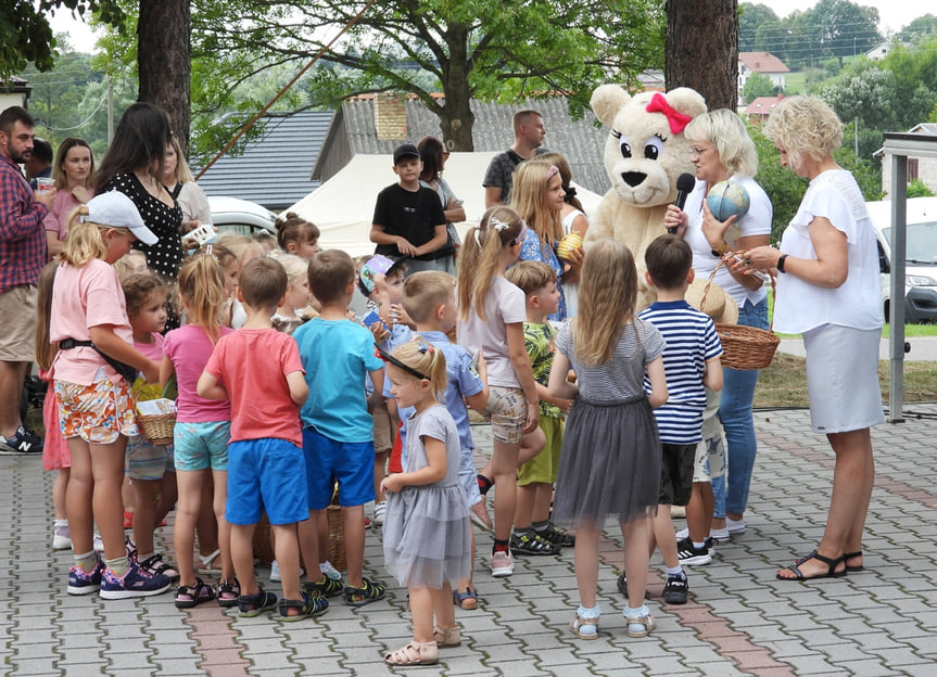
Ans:
POLYGON ((232 442, 228 446, 228 502, 231 524, 256 524, 267 511, 270 524, 309 518, 305 459, 292 442, 276 437, 232 442))

